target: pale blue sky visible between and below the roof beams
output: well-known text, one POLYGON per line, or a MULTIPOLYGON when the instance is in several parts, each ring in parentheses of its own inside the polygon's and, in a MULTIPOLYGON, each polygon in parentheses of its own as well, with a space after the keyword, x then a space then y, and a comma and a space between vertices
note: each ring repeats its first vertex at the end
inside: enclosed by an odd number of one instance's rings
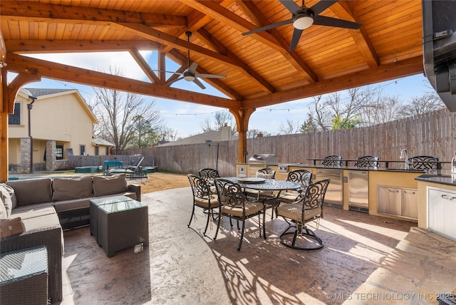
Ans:
MULTIPOLYGON (((152 69, 157 68, 157 52, 148 51, 141 53, 152 69)), ((96 70, 106 70, 109 66, 117 66, 123 72, 123 76, 125 77, 148 81, 148 78, 128 52, 41 54, 33 57, 57 63, 64 63, 70 66, 96 70)), ((179 66, 168 60, 166 68, 167 71, 176 71, 179 66)), ((14 75, 11 74, 11 76, 8 77, 8 81, 11 82, 13 77, 14 75)), ((184 80, 173 83, 172 87, 224 97, 222 93, 212 88, 208 83, 205 83, 204 81, 202 82, 207 88, 204 91, 201 90, 195 83, 184 80)), ((423 74, 409 76, 406 78, 398 78, 393 81, 378 83, 372 86, 381 86, 384 95, 395 95, 404 102, 430 91, 430 88, 427 87, 429 86, 427 78, 425 78, 423 74)), ((90 86, 81 86, 76 83, 66 83, 63 81, 55 81, 45 78, 43 78, 41 82, 28 83, 25 87, 75 88, 80 91, 81 95, 83 98, 86 98, 86 100, 93 100, 94 98, 93 90, 90 86)), ((197 105, 176 100, 167 100, 164 98, 153 98, 150 96, 145 96, 145 99, 155 99, 156 108, 160 110, 160 116, 163 120, 165 120, 167 127, 172 130, 177 130, 178 137, 182 138, 201 133, 201 125, 204 120, 209 119, 213 122, 214 113, 224 110, 223 108, 197 105)), ((310 103, 311 98, 304 98, 265 108, 257 108, 249 120, 249 129, 257 129, 271 135, 276 135, 279 133, 280 125, 285 124, 287 119, 294 121, 294 123, 302 124, 304 123, 304 120, 306 120, 310 103)), ((229 123, 229 125, 232 124, 229 123)))

